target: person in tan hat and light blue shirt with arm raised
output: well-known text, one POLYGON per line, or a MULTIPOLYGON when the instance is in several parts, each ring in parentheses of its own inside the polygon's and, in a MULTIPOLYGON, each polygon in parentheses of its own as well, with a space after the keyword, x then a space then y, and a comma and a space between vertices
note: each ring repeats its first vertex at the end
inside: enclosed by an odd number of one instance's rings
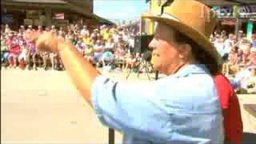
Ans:
POLYGON ((144 16, 158 22, 150 47, 154 68, 167 75, 155 82, 101 76, 72 44, 53 34, 39 37, 37 47, 60 54, 82 96, 105 126, 123 132, 124 143, 222 143, 222 111, 210 75, 220 58, 208 40, 216 14, 194 0, 175 0, 162 10, 144 16))

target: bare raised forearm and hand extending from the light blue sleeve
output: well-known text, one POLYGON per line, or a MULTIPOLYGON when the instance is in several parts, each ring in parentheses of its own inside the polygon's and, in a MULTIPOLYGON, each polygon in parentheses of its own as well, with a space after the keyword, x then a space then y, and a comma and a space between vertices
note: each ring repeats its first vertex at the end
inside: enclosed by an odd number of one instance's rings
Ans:
POLYGON ((63 38, 56 38, 53 32, 44 33, 40 36, 34 32, 26 33, 30 42, 36 43, 37 50, 59 53, 67 73, 70 75, 74 85, 77 87, 83 98, 91 105, 90 89, 98 71, 82 57, 76 48, 63 38))

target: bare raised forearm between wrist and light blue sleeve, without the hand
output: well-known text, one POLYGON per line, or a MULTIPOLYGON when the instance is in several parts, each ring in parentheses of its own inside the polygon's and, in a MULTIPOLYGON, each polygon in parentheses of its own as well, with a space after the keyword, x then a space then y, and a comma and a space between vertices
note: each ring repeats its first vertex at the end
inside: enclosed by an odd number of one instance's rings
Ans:
POLYGON ((90 89, 94 79, 99 75, 98 71, 87 62, 82 54, 69 42, 58 42, 58 52, 62 58, 67 73, 83 98, 91 105, 90 89))

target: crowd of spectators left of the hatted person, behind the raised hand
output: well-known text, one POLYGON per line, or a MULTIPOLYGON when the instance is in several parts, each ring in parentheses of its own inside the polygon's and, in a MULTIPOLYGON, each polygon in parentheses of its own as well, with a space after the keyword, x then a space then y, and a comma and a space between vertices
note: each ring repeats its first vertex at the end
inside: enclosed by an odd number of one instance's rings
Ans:
POLYGON ((20 26, 18 31, 10 30, 8 25, 1 27, 1 61, 7 69, 21 68, 27 70, 64 70, 58 54, 38 52, 33 43, 26 38, 26 32, 34 30, 38 35, 51 31, 58 38, 71 42, 83 57, 94 64, 109 69, 133 69, 141 59, 134 51, 134 37, 138 34, 128 27, 102 25, 94 30, 87 26, 65 27, 20 26))

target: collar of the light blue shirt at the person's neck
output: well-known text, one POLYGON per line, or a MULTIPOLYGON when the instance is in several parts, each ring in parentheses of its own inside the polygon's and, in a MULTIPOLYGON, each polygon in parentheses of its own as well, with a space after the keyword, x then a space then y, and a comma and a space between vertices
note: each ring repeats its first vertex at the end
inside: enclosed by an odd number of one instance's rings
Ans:
POLYGON ((210 71, 203 64, 191 64, 178 70, 174 77, 186 77, 190 74, 210 74, 210 71))

